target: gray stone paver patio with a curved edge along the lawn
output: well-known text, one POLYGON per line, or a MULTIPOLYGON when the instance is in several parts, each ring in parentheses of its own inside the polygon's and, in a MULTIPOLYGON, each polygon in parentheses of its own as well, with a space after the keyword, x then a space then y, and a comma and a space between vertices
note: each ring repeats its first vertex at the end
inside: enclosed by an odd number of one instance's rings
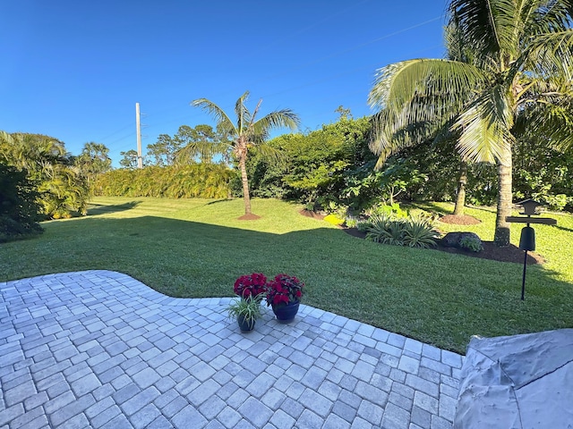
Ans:
POLYGON ((452 425, 463 357, 302 305, 255 332, 230 299, 109 271, 0 282, 0 427, 452 425))

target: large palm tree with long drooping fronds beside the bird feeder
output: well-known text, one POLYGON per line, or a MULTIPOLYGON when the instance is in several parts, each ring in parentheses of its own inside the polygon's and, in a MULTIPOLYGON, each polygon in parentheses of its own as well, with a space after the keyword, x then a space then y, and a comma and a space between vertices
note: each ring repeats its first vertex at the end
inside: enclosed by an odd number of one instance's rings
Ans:
POLYGON ((381 109, 371 144, 379 165, 444 127, 458 133, 463 159, 497 164, 494 241, 509 245, 517 116, 537 112, 549 145, 573 142, 572 20, 571 0, 452 0, 448 27, 471 61, 415 59, 378 71, 369 103, 381 109))

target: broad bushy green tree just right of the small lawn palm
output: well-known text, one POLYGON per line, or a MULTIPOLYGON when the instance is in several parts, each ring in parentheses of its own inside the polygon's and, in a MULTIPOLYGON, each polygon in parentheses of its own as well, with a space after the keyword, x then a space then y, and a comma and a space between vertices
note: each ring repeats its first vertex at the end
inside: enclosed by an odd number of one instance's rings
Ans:
POLYGON ((295 199, 313 209, 328 209, 330 202, 356 208, 364 198, 344 189, 351 186, 347 182, 352 179, 347 177, 372 160, 370 129, 369 118, 354 120, 344 115, 321 130, 269 140, 269 146, 282 154, 284 162, 269 163, 253 152, 249 163, 252 194, 295 199))

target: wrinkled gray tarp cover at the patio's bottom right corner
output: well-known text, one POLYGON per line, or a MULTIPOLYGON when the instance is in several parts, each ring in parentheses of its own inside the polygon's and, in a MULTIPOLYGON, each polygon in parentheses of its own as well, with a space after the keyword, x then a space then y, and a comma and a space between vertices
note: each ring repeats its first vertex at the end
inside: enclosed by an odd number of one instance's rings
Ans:
POLYGON ((473 338, 454 428, 573 428, 573 329, 473 338))

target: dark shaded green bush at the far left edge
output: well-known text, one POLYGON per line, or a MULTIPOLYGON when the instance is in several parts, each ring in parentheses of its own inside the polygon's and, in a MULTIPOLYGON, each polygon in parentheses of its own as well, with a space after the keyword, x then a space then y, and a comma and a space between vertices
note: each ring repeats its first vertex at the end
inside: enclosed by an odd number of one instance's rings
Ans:
POLYGON ((0 164, 0 242, 42 232, 38 191, 26 172, 0 164))

